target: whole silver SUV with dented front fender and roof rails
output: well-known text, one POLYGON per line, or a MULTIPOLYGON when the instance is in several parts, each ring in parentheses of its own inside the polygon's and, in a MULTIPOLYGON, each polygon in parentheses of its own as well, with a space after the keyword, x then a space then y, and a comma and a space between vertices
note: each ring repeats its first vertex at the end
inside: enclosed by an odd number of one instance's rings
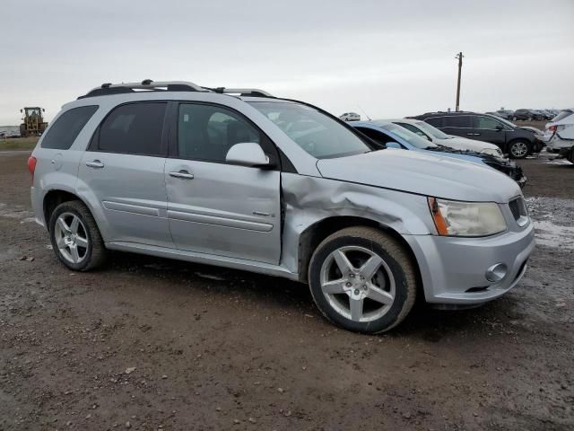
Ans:
POLYGON ((255 89, 104 84, 63 107, 29 168, 67 268, 117 250, 288 277, 361 332, 393 328, 417 296, 464 307, 505 294, 535 243, 504 174, 387 150, 255 89))

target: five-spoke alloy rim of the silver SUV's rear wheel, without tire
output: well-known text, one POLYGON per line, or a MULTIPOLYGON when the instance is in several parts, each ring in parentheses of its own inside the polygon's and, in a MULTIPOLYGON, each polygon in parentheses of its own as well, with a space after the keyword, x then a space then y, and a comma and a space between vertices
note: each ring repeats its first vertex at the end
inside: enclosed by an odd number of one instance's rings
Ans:
POLYGON ((88 233, 80 217, 62 213, 57 217, 54 229, 57 248, 67 261, 77 264, 88 254, 88 233))

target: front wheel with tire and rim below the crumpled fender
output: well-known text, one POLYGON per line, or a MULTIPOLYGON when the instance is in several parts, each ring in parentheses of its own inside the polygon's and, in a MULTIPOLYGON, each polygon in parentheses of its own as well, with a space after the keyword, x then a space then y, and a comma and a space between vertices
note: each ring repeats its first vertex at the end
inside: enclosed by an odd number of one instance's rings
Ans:
POLYGON ((321 242, 309 288, 327 320, 345 330, 391 330, 413 308, 416 269, 403 245, 371 227, 350 227, 321 242))

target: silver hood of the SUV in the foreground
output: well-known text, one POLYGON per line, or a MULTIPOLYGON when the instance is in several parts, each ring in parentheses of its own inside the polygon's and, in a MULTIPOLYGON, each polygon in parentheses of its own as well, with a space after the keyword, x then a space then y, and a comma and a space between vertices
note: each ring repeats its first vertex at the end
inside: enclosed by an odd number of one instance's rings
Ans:
POLYGON ((320 159, 324 178, 455 200, 507 203, 520 195, 517 183, 476 163, 404 150, 320 159))

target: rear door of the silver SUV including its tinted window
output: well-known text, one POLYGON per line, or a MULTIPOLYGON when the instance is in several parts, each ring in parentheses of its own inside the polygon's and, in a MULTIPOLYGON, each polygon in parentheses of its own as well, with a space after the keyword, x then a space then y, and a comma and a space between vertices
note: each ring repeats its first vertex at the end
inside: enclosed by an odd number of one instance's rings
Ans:
POLYGON ((167 102, 117 106, 83 154, 77 189, 97 202, 106 241, 173 247, 164 174, 166 109, 167 102))

